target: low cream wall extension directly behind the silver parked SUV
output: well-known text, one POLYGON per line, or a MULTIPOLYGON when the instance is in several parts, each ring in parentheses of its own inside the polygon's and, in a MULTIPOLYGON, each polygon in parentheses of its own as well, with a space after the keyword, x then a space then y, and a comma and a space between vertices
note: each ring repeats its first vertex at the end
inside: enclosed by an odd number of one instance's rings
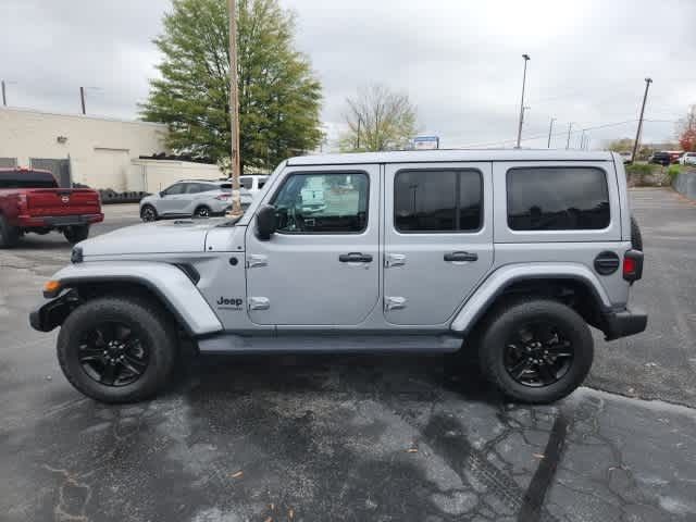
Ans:
POLYGON ((179 179, 220 179, 217 165, 188 161, 132 160, 127 174, 128 190, 159 192, 179 179))

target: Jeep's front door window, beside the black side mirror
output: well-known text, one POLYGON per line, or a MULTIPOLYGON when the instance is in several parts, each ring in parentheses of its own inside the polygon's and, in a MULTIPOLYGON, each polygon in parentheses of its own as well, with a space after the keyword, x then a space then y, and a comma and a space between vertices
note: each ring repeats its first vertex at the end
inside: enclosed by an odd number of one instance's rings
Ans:
POLYGON ((276 194, 276 229, 346 234, 368 226, 369 179, 364 173, 293 174, 276 194))

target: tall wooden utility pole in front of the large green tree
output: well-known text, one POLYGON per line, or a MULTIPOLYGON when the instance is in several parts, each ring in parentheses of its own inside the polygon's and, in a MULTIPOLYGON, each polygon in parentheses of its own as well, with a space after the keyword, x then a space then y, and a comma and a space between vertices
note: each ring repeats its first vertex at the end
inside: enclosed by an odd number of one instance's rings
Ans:
POLYGON ((227 0, 229 11, 229 130, 232 150, 229 162, 232 167, 232 215, 241 215, 239 196, 239 94, 237 91, 237 11, 236 0, 227 0))

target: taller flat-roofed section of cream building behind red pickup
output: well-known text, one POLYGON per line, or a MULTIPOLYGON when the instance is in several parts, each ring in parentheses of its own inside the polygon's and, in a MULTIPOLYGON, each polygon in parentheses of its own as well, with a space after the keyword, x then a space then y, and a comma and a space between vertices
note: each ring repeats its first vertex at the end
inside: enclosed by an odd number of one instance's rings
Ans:
POLYGON ((92 188, 136 190, 130 161, 169 152, 165 136, 157 123, 0 108, 0 158, 26 166, 30 158, 70 158, 73 183, 92 188))

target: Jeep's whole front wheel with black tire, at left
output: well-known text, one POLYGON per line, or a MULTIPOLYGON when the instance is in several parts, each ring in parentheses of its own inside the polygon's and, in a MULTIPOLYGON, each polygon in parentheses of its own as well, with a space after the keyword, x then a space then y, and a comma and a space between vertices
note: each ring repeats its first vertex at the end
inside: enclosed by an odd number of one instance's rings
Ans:
POLYGON ((57 351, 67 381, 87 397, 108 403, 137 402, 161 391, 172 374, 178 351, 176 327, 157 303, 127 297, 97 298, 67 316, 57 351), (109 339, 121 339, 130 348, 119 351, 117 346, 107 343, 109 339), (120 357, 125 360, 107 361, 120 357), (111 374, 108 365, 113 368, 111 374), (130 372, 128 365, 140 373, 130 372), (116 372, 120 376, 113 378, 116 372))

